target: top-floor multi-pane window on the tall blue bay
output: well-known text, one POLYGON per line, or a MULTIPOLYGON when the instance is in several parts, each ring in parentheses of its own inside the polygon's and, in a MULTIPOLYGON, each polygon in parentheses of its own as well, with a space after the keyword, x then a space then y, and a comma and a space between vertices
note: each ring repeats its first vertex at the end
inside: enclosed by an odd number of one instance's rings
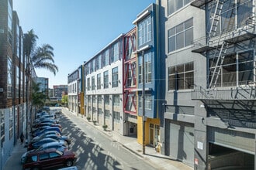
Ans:
POLYGON ((152 21, 151 16, 138 23, 138 45, 142 46, 152 39, 152 21))

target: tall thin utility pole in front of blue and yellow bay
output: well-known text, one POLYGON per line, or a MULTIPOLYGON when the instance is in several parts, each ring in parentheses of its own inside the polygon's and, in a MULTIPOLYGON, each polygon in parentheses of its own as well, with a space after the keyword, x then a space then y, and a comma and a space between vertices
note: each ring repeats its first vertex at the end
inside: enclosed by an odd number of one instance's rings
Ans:
POLYGON ((142 51, 142 154, 145 155, 145 67, 144 67, 144 50, 142 51))

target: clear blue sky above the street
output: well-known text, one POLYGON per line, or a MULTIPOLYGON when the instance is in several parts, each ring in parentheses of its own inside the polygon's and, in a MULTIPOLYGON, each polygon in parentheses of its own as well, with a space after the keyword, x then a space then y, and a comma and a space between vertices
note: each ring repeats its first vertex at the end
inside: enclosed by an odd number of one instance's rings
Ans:
POLYGON ((133 29, 137 15, 156 0, 13 0, 19 25, 26 33, 33 29, 44 43, 54 47, 59 67, 56 76, 36 70, 49 78, 49 87, 67 84, 67 74, 99 52, 121 33, 133 29))

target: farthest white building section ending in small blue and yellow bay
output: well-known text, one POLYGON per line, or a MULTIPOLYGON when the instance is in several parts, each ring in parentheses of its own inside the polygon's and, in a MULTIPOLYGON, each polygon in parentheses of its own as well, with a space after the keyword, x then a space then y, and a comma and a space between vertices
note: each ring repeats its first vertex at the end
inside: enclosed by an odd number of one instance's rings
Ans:
POLYGON ((84 110, 83 66, 67 76, 68 109, 77 114, 85 114, 84 110))

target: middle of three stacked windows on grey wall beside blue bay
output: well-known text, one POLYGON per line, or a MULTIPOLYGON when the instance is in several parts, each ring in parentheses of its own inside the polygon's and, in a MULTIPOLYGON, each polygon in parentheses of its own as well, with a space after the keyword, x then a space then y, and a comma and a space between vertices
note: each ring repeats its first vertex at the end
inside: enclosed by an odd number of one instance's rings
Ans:
POLYGON ((193 41, 193 19, 168 30, 168 53, 189 46, 193 41))

